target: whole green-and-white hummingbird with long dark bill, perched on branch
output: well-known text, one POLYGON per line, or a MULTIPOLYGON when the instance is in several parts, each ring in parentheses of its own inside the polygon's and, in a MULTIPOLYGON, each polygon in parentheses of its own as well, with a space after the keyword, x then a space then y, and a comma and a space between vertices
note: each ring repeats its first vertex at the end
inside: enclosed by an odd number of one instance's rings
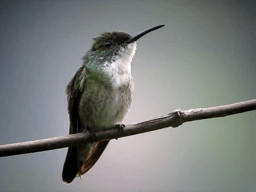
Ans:
MULTIPOLYGON (((103 32, 93 38, 92 48, 66 87, 69 134, 124 128, 122 120, 130 110, 134 89, 131 61, 136 40, 161 28, 158 25, 131 36, 126 32, 103 32)), ((63 182, 81 178, 100 158, 109 140, 70 146, 62 171, 63 182)))

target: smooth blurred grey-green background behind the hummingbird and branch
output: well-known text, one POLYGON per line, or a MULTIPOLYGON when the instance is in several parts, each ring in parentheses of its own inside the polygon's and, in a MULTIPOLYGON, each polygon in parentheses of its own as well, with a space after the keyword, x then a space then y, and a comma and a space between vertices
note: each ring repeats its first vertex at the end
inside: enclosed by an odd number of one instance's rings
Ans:
MULTIPOLYGON (((256 98, 256 3, 0 1, 0 144, 68 134, 64 90, 92 38, 137 34, 130 124, 256 98)), ((0 191, 256 190, 256 112, 112 140, 70 185, 67 148, 0 158, 0 191)))

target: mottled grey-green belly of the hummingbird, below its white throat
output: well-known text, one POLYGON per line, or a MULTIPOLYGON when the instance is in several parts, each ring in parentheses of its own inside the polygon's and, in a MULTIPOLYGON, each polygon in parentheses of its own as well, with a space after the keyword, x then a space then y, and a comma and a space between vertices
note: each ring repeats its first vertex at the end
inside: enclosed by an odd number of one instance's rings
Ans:
POLYGON ((113 88, 98 84, 86 85, 79 106, 79 117, 85 128, 98 130, 122 123, 132 103, 130 83, 113 88))

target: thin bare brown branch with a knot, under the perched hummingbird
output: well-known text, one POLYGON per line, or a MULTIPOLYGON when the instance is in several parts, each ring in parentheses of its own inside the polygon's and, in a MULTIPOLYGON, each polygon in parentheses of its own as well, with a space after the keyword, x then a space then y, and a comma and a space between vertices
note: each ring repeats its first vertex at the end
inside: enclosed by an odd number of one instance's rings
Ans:
MULTIPOLYGON (((256 110, 256 99, 209 108, 197 108, 185 111, 178 109, 158 118, 150 119, 137 124, 126 125, 122 134, 116 127, 108 130, 95 131, 94 134, 97 140, 114 139, 170 126, 178 127, 182 123, 188 121, 224 117, 251 110, 256 110)), ((14 144, 5 144, 0 145, 0 157, 53 150, 74 146, 85 142, 93 142, 93 138, 90 137, 87 132, 14 144)))

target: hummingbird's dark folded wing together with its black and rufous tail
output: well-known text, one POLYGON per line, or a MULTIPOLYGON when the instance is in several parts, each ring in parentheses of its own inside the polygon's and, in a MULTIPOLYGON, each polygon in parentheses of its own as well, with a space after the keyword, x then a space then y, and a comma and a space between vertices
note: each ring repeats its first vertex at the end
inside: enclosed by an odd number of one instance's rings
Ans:
MULTIPOLYGON (((79 105, 84 89, 84 83, 86 81, 87 69, 80 67, 74 78, 69 82, 66 93, 68 95, 68 113, 70 119, 69 134, 75 134, 80 132, 81 126, 84 126, 79 120, 79 105)), ((102 155, 102 152, 108 145, 109 140, 93 142, 91 144, 85 144, 85 146, 72 146, 68 148, 66 160, 64 162, 62 171, 62 180, 66 183, 71 183, 78 175, 86 173, 102 155), (81 150, 86 148, 86 152, 82 157, 79 157, 81 150), (81 159, 82 164, 79 162, 81 159)))

